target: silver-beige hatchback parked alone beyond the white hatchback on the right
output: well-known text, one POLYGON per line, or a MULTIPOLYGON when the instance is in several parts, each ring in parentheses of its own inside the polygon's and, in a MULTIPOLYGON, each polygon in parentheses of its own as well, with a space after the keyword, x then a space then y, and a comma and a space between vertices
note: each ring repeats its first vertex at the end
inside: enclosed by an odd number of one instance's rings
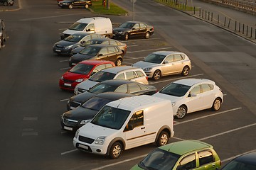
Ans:
POLYGON ((140 67, 149 78, 154 80, 171 74, 187 76, 191 70, 191 60, 183 52, 158 51, 146 56, 144 60, 132 64, 140 67))

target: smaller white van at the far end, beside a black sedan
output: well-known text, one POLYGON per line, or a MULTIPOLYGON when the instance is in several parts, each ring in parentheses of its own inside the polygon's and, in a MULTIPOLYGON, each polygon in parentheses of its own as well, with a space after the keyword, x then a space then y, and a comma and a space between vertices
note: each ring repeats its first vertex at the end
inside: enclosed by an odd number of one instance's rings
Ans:
POLYGON ((112 23, 110 18, 105 17, 92 17, 92 18, 81 18, 80 20, 73 23, 70 28, 65 30, 60 38, 64 38, 74 33, 86 32, 86 33, 97 33, 104 35, 107 38, 112 38, 112 23))

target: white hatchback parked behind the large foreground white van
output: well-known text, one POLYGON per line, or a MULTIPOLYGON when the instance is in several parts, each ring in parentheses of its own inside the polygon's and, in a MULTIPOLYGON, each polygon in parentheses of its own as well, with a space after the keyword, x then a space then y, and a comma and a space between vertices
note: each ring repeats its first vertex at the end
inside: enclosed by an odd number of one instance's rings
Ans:
POLYGON ((153 96, 169 99, 176 118, 186 113, 212 108, 218 111, 223 93, 214 81, 208 79, 181 79, 168 84, 153 96))

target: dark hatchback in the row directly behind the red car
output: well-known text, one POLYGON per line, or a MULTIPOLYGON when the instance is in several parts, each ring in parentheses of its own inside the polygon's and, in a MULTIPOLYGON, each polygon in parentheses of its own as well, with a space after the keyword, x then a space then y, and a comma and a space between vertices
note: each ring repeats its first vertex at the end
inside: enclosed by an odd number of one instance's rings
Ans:
POLYGON ((124 53, 117 45, 90 45, 79 53, 70 57, 69 66, 73 67, 83 60, 109 60, 116 66, 122 65, 124 53))

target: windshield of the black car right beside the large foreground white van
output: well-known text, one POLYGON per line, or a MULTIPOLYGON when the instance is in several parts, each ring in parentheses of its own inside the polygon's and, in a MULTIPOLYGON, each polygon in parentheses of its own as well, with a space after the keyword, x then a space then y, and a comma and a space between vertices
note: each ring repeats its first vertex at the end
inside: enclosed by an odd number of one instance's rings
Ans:
POLYGON ((82 104, 82 108, 89 108, 95 111, 100 111, 100 109, 105 106, 107 103, 110 103, 110 99, 108 98, 99 98, 93 97, 90 98, 88 101, 82 104))

